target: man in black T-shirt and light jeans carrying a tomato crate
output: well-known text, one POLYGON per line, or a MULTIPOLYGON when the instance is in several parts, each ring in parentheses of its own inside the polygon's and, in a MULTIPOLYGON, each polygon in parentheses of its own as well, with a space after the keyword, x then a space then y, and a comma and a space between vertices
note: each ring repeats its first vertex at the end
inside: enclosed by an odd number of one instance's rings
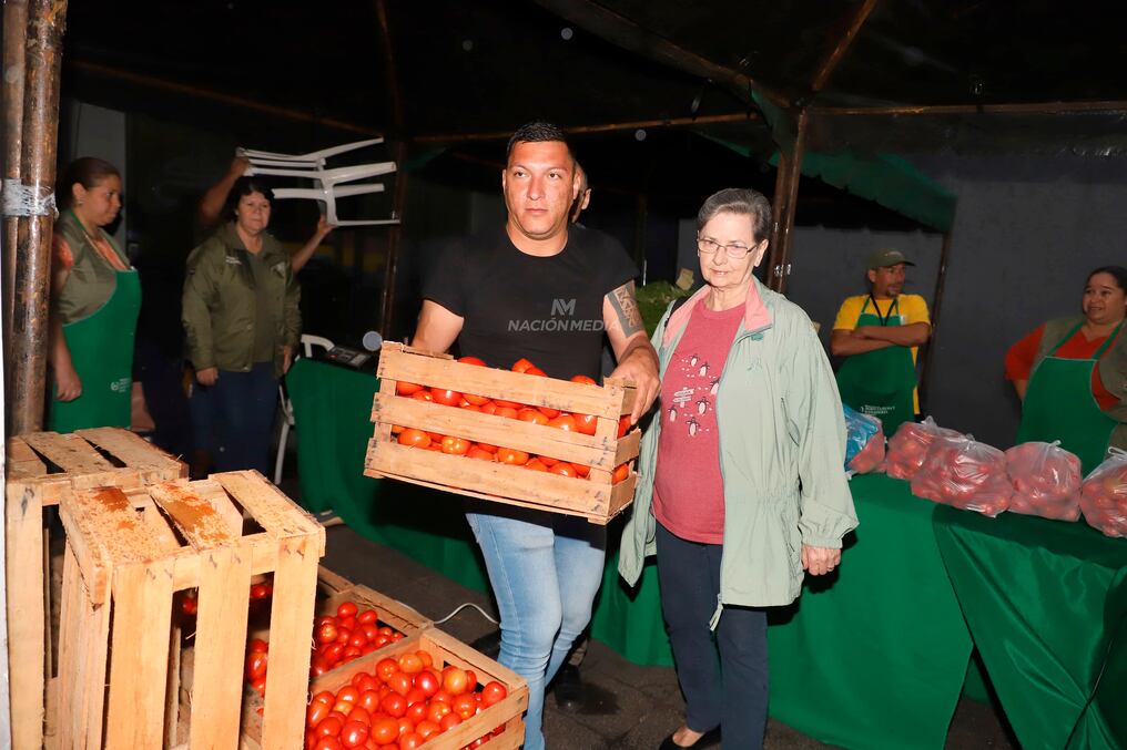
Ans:
MULTIPOLYGON (((554 125, 529 123, 508 142, 503 230, 455 242, 424 283, 412 346, 492 367, 527 358, 550 377, 597 378, 604 333, 614 377, 633 381, 631 421, 657 396, 657 354, 635 300, 637 268, 602 233, 569 227, 580 178, 554 125)), ((591 619, 606 528, 548 511, 474 503, 467 519, 500 609, 499 661, 529 681, 525 748, 544 747, 544 686, 591 619)))

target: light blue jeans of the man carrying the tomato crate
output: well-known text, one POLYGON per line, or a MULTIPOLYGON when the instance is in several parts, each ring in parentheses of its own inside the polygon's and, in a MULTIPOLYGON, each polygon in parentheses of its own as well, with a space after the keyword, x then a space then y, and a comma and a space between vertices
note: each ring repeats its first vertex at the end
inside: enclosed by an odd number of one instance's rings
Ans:
POLYGON ((488 510, 465 518, 500 610, 498 660, 529 681, 524 747, 541 750, 544 686, 591 620, 603 580, 606 528, 544 511, 497 506, 488 510))

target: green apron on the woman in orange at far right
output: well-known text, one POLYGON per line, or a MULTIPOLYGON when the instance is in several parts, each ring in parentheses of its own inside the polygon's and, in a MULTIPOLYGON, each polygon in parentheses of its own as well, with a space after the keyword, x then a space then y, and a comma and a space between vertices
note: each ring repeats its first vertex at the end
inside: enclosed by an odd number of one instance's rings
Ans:
POLYGON ((1018 428, 1017 441, 1061 440, 1061 447, 1076 454, 1084 474, 1088 474, 1103 461, 1111 432, 1119 426, 1095 402, 1092 394, 1092 369, 1116 340, 1122 323, 1116 327, 1091 359, 1053 356, 1083 324, 1082 321, 1068 331, 1061 343, 1033 369, 1026 390, 1026 400, 1021 404, 1021 427, 1018 428))

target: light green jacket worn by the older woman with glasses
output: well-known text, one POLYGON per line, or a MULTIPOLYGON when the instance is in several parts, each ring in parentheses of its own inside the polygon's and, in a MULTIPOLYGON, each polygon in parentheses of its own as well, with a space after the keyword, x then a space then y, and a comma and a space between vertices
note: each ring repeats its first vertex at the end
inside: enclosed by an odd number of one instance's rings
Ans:
MULTIPOLYGON (((692 307, 707 294, 702 288, 672 315, 671 304, 658 323, 653 341, 663 377, 692 307)), ((802 545, 841 547, 857 527, 843 470, 845 421, 829 361, 806 313, 757 280, 716 404, 725 519, 713 627, 724 605, 793 601, 802 583, 802 545)), ((633 512, 622 532, 619 572, 631 586, 656 552, 650 502, 659 432, 655 418, 642 436, 633 512)))

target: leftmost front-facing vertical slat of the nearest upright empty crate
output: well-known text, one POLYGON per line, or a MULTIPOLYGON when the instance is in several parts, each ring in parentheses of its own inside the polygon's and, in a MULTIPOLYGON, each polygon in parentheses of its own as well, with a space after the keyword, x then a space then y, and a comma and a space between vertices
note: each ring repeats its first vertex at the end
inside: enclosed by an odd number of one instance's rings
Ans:
POLYGON ((106 747, 159 750, 172 619, 171 564, 157 560, 118 565, 113 592, 106 747))

